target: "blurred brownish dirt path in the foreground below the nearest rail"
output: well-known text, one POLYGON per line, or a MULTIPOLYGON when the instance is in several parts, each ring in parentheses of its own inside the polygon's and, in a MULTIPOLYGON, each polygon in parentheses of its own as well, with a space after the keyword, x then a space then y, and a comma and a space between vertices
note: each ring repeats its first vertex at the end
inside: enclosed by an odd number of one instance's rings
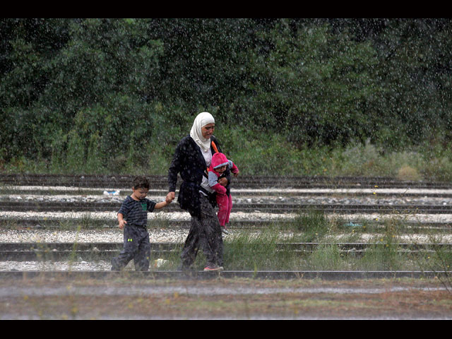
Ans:
POLYGON ((452 319, 438 280, 0 282, 0 319, 452 319))

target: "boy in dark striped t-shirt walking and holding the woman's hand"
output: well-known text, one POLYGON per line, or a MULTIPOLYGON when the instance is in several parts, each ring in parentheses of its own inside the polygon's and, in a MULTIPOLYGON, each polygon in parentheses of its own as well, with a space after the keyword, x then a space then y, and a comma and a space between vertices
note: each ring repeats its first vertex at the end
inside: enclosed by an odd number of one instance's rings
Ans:
POLYGON ((161 203, 145 198, 149 191, 145 177, 133 179, 132 194, 127 196, 117 213, 119 228, 124 228, 124 249, 112 258, 112 270, 121 270, 133 259, 135 270, 149 270, 150 242, 146 229, 148 212, 160 209, 172 202, 166 198, 161 203))

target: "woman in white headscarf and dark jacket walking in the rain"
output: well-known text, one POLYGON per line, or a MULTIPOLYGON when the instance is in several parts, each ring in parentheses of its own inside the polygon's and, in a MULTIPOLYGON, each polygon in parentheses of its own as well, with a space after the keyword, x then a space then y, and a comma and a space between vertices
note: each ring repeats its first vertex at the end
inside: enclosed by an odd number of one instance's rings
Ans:
MULTIPOLYGON (((177 202, 191 215, 191 227, 182 249, 182 269, 190 269, 201 247, 206 256, 204 270, 222 270, 223 241, 220 222, 215 214, 215 196, 208 187, 206 169, 210 166, 212 155, 221 152, 218 141, 213 136, 215 119, 208 112, 196 117, 190 135, 182 138, 177 145, 168 170, 168 198, 174 199, 177 174, 182 184, 177 202), (203 184, 204 182, 204 184, 203 184)), ((230 172, 220 182, 226 186, 230 182, 230 172)))

